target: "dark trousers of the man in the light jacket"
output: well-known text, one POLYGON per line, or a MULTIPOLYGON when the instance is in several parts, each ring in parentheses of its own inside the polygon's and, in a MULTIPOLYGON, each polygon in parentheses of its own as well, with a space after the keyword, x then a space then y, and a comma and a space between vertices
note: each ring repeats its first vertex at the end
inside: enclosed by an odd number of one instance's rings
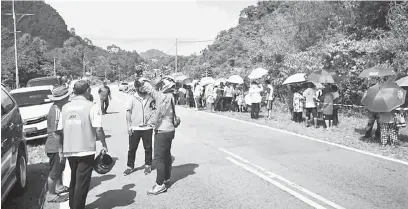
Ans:
POLYGON ((129 150, 127 166, 135 167, 136 151, 139 146, 140 138, 143 141, 143 148, 145 150, 145 165, 152 165, 152 137, 153 130, 135 130, 129 136, 129 150))

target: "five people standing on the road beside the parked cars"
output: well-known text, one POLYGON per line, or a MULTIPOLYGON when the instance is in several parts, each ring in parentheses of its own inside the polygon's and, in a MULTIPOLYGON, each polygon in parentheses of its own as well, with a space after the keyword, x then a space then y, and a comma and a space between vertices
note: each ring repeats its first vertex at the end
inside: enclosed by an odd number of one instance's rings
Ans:
MULTIPOLYGON (((145 78, 134 82, 136 92, 126 107, 129 150, 124 175, 134 171, 135 153, 140 142, 145 148, 145 174, 151 173, 152 142, 154 134, 154 158, 157 178, 148 195, 157 195, 170 186, 172 167, 171 144, 180 119, 175 112, 175 82, 162 79, 153 87, 145 78)), ((69 199, 71 209, 84 209, 92 171, 95 165, 96 141, 108 152, 102 115, 107 113, 111 92, 104 83, 98 91, 101 106, 93 102, 88 81, 79 80, 70 89, 58 86, 49 98, 54 101, 47 118, 48 137, 45 151, 49 157, 48 202, 64 202, 69 199), (69 187, 63 185, 62 173, 66 159, 71 168, 69 187), (62 196, 63 193, 68 196, 62 196)))

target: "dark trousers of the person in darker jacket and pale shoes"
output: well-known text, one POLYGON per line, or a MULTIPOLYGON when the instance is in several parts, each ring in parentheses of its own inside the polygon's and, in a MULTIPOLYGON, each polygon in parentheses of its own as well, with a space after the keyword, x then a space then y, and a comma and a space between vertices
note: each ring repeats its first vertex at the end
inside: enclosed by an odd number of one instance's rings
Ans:
POLYGON ((162 185, 164 180, 170 179, 171 175, 171 142, 175 131, 155 132, 154 136, 154 160, 156 161, 156 183, 162 185))

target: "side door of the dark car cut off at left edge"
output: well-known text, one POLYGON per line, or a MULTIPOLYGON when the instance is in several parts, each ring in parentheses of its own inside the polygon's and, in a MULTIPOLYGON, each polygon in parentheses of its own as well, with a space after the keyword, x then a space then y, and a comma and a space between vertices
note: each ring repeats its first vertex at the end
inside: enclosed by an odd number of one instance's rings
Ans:
POLYGON ((13 119, 15 103, 11 97, 1 89, 1 186, 9 180, 9 175, 15 167, 13 156, 13 140, 15 138, 16 125, 13 119), (14 163, 14 165, 13 165, 14 163))

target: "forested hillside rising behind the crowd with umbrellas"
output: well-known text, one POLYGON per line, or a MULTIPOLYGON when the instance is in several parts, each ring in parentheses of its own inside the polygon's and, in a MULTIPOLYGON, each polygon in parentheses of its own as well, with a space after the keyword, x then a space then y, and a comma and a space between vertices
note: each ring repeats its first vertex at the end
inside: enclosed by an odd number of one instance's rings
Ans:
POLYGON ((357 78, 363 69, 408 72, 408 2, 258 2, 199 56, 179 60, 179 69, 193 77, 205 69, 245 77, 263 67, 278 87, 296 72, 328 69, 343 78, 342 102, 359 104, 367 88, 357 78))

